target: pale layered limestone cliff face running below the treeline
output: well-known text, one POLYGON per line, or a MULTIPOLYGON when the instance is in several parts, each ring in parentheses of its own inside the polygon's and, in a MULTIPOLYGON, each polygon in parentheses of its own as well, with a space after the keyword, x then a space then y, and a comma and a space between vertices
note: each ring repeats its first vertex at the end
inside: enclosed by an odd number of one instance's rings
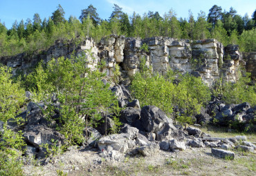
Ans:
POLYGON ((201 77, 209 86, 219 77, 222 77, 223 81, 235 82, 240 67, 252 72, 254 79, 256 75, 255 52, 245 55, 246 63, 238 46, 229 45, 224 48, 222 43, 215 39, 190 41, 169 37, 140 39, 111 35, 101 39, 100 43, 86 39, 77 46, 72 42, 64 44, 56 41, 55 45, 42 52, 43 54, 30 58, 21 54, 11 58, 0 58, 0 61, 14 68, 15 72, 22 70, 26 73, 28 68, 35 66, 40 60, 47 62, 51 58, 71 57, 74 50, 77 56, 86 51, 87 66, 91 69, 95 69, 100 61, 104 61, 102 72, 106 72, 110 77, 116 64, 120 66, 123 75, 133 76, 138 72, 143 57, 146 59, 146 65, 152 66, 153 71, 159 75, 165 75, 169 69, 191 72, 192 75, 201 77), (141 50, 143 43, 147 43, 148 52, 141 50))

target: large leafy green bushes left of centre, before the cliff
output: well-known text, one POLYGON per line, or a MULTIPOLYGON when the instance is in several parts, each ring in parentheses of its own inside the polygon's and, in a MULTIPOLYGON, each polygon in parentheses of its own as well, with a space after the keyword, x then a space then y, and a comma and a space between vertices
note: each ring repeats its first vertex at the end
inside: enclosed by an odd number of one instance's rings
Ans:
POLYGON ((60 117, 57 130, 66 137, 66 143, 82 144, 82 130, 92 126, 104 115, 118 114, 118 101, 109 90, 109 84, 104 85, 99 70, 87 68, 91 52, 81 57, 57 60, 52 59, 46 66, 39 64, 35 72, 27 76, 34 92, 35 101, 45 101, 48 109, 45 115, 49 120, 53 116, 54 106, 51 106, 51 96, 56 95, 60 101, 60 117), (84 123, 84 120, 86 123, 84 123))

